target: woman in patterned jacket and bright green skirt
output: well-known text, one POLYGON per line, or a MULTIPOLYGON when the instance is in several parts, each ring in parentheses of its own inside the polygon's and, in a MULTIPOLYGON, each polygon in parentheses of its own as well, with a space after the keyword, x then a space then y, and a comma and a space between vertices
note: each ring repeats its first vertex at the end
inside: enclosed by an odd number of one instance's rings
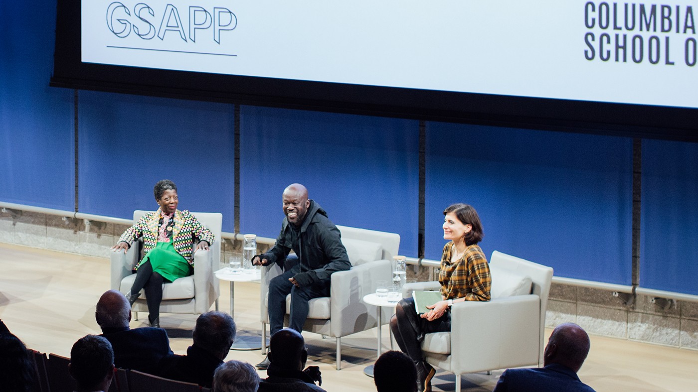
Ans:
POLYGON ((208 250, 214 234, 189 211, 179 211, 177 186, 170 180, 155 184, 155 200, 158 211, 145 214, 138 223, 121 234, 112 250, 126 252, 138 237, 143 237, 143 259, 135 266, 135 280, 126 295, 133 305, 140 290, 145 289, 150 326, 160 326, 160 303, 163 300, 163 282, 193 273, 192 245, 194 237, 199 239, 195 250, 208 250))

